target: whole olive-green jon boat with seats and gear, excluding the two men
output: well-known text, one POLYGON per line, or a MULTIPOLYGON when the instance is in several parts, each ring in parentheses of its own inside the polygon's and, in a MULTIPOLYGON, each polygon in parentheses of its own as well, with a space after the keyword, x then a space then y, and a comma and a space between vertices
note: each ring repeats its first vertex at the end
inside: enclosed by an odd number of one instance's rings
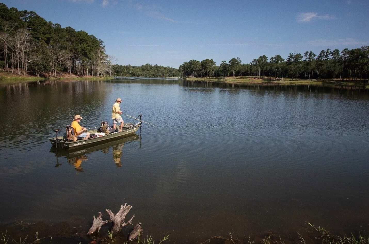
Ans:
MULTIPOLYGON (((92 136, 89 139, 77 139, 73 134, 73 130, 69 130, 68 127, 66 129, 66 135, 65 136, 58 136, 58 131, 60 130, 54 130, 55 137, 49 138, 50 143, 54 147, 62 147, 63 149, 76 149, 77 147, 84 147, 87 145, 92 145, 99 142, 105 142, 106 140, 116 140, 125 136, 130 136, 134 134, 138 128, 141 126, 141 115, 139 115, 140 119, 137 123, 126 123, 123 125, 123 130, 121 132, 118 132, 117 130, 113 131, 113 129, 108 127, 107 125, 103 125, 104 121, 101 121, 101 126, 98 129, 89 130, 90 135, 92 136), (104 133, 104 135, 96 136, 94 135, 96 132, 100 132, 100 135, 104 133), (72 135, 71 135, 72 134, 72 135)), ((117 126, 118 127, 118 126, 117 126)))

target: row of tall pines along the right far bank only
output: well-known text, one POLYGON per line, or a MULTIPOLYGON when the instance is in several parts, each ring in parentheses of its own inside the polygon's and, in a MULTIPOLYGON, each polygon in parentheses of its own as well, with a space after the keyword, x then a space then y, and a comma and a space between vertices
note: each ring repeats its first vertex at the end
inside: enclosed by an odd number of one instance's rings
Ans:
POLYGON ((190 60, 179 66, 183 77, 229 77, 254 76, 274 79, 339 79, 339 80, 363 80, 368 82, 369 70, 369 46, 355 49, 321 50, 316 55, 312 51, 290 53, 287 59, 280 55, 268 57, 259 56, 250 63, 242 63, 239 57, 232 58, 229 62, 222 61, 217 66, 213 59, 205 59, 201 62, 190 60))

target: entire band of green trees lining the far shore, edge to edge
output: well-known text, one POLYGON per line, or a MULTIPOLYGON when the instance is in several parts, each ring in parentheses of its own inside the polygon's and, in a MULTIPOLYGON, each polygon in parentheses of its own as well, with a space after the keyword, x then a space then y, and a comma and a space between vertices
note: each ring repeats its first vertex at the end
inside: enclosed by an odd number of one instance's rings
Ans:
POLYGON ((259 56, 250 63, 239 57, 216 65, 213 59, 190 60, 179 69, 159 65, 117 65, 105 52, 104 42, 85 31, 46 21, 34 11, 0 3, 0 68, 11 74, 57 77, 229 77, 267 79, 360 80, 368 82, 369 46, 259 56))

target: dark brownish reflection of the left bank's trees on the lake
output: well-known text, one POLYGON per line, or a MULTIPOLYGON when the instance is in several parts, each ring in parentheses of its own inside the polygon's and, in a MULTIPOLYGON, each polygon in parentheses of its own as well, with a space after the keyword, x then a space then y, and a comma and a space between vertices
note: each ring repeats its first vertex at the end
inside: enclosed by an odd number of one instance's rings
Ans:
POLYGON ((13 144, 15 149, 20 149, 20 145, 24 144, 32 144, 35 147, 42 145, 45 137, 55 135, 52 131, 54 129, 62 129, 63 132, 59 135, 65 135, 65 125, 70 125, 76 114, 84 116, 85 121, 81 125, 87 128, 99 125, 107 114, 104 106, 101 106, 107 94, 106 83, 103 82, 12 83, 0 86, 0 94, 2 111, 0 124, 3 125, 4 131, 22 128, 12 130, 12 133, 0 131, 0 145, 13 144), (17 119, 16 114, 22 114, 23 119, 21 121, 17 119), (24 133, 34 136, 23 137, 24 133), (22 142, 14 140, 18 137, 23 138, 22 142))

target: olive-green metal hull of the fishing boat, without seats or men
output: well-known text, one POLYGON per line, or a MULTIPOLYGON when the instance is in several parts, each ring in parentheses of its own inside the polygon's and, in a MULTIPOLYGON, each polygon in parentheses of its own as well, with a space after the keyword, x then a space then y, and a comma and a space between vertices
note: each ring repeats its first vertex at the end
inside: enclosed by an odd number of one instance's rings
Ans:
MULTIPOLYGON (((141 123, 139 123, 138 125, 135 125, 132 128, 123 130, 121 132, 114 132, 114 133, 110 133, 109 135, 105 135, 105 136, 101 136, 101 137, 96 137, 96 138, 91 138, 91 139, 82 139, 82 140, 77 140, 75 142, 66 142, 63 141, 63 137, 57 137, 57 139, 55 140, 55 137, 53 138, 49 138, 50 143, 52 144, 52 146, 54 147, 62 147, 63 149, 75 149, 78 147, 83 147, 86 145, 90 145, 90 144, 95 144, 95 143, 99 143, 102 141, 106 141, 106 140, 114 140, 114 139, 118 139, 118 138, 122 138, 125 136, 130 136, 132 134, 134 134, 138 128, 141 126, 141 123)), ((91 134, 97 132, 97 130, 92 130, 90 131, 91 134)))

